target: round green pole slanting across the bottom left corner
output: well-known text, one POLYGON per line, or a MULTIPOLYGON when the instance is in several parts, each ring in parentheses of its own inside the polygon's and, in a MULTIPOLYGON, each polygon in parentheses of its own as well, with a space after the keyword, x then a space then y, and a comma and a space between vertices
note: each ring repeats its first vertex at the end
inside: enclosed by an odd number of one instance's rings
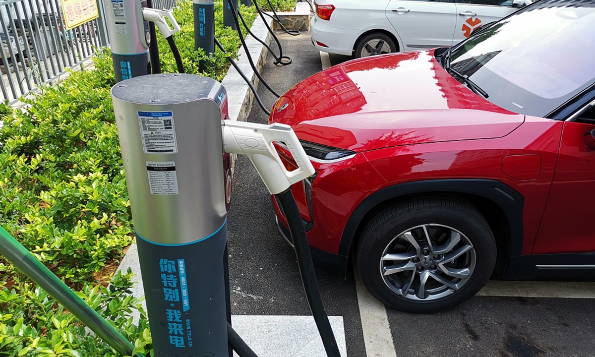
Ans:
MULTIPOLYGON (((27 274, 31 280, 35 281, 37 285, 54 297, 118 353, 127 356, 132 355, 134 346, 126 337, 112 327, 109 322, 76 295, 60 278, 37 260, 33 253, 29 252, 2 227, 0 227, 0 254, 27 274)), ((142 353, 137 353, 136 356, 145 357, 142 353)))

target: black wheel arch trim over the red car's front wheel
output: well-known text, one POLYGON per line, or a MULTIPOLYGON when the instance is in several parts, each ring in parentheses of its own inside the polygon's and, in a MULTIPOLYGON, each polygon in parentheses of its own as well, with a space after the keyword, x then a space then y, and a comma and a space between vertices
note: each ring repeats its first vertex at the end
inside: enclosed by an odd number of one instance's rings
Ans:
POLYGON ((511 255, 521 255, 523 245, 522 212, 524 197, 508 185, 485 179, 443 179, 400 183, 372 193, 355 208, 343 230, 339 255, 349 256, 356 231, 364 217, 383 202, 416 193, 464 193, 493 201, 508 219, 511 234, 511 255))

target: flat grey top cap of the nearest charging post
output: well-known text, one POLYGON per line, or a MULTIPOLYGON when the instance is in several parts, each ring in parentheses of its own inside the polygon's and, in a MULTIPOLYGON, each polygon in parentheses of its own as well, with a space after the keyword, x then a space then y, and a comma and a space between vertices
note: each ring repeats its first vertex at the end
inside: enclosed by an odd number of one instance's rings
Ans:
POLYGON ((112 87, 116 98, 137 104, 180 104, 211 98, 221 105, 226 92, 216 80, 196 74, 149 74, 124 80, 112 87))

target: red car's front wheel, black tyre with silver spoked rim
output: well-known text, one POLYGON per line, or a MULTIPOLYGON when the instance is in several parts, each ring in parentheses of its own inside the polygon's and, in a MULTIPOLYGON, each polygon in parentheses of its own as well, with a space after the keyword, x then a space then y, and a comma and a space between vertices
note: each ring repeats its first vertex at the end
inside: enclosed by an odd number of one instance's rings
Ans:
POLYGON ((496 242, 469 203, 419 198, 372 217, 354 262, 369 292, 385 305, 436 312, 465 302, 486 284, 496 263, 496 242))

